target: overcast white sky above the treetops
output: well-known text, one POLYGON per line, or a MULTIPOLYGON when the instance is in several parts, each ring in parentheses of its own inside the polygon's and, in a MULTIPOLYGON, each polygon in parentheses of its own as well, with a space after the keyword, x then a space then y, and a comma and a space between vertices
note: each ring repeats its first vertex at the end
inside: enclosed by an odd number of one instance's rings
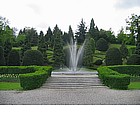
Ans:
POLYGON ((0 0, 0 4, 0 16, 10 26, 44 32, 56 24, 62 31, 68 31, 69 25, 75 31, 82 18, 87 26, 93 18, 99 29, 117 33, 128 16, 140 14, 140 0, 0 0))

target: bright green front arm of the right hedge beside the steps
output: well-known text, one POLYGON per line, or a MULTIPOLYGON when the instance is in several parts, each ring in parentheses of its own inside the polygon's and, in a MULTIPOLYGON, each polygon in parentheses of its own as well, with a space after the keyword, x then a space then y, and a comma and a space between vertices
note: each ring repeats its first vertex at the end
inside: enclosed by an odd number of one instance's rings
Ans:
POLYGON ((110 88, 127 89, 130 84, 130 75, 128 74, 121 74, 107 66, 99 67, 97 71, 103 84, 110 88))

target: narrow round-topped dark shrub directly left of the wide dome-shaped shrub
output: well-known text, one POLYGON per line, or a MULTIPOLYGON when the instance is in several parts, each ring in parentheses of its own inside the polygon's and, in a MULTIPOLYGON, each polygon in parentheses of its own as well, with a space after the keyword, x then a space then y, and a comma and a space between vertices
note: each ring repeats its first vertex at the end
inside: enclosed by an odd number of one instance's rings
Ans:
POLYGON ((8 56, 8 66, 20 66, 19 51, 12 50, 8 56))

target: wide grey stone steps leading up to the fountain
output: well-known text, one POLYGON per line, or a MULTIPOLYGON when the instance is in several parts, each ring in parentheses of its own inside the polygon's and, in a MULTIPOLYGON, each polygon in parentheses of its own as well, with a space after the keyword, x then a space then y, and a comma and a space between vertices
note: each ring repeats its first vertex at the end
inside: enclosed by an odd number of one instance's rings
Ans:
POLYGON ((42 86, 47 89, 78 89, 104 87, 97 72, 52 72, 50 78, 42 86))

